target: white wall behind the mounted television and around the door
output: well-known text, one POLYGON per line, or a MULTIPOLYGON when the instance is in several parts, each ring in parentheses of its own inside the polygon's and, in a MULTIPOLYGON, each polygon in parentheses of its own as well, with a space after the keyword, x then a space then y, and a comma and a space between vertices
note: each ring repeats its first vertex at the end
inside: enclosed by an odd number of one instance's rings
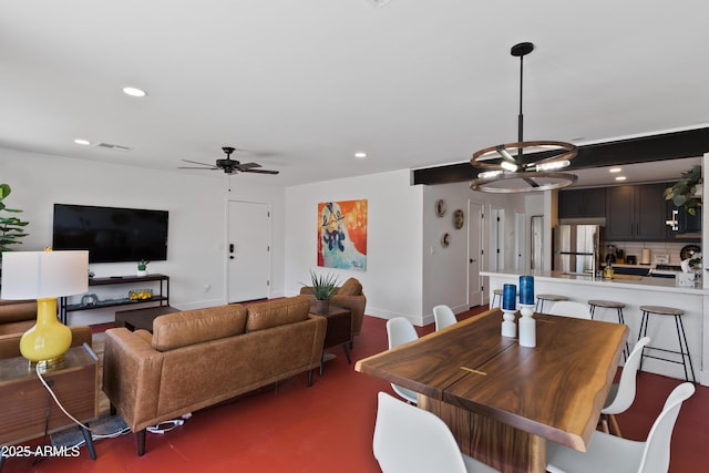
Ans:
MULTIPOLYGON (((30 236, 17 249, 38 250, 51 245, 54 203, 168 210, 167 260, 151 263, 148 271, 171 276, 171 305, 181 309, 208 307, 226 300, 227 199, 268 203, 273 210, 270 296, 284 292, 281 188, 249 184, 234 176, 229 193, 227 176, 217 172, 202 177, 6 148, 0 148, 0 182, 12 187, 6 203, 23 209, 20 216, 30 223, 30 236)), ((136 268, 135 264, 121 263, 93 264, 90 269, 96 276, 120 276, 133 275, 136 268)), ((106 289, 92 288, 92 291, 101 292, 99 296, 104 298, 106 289)), ((132 288, 115 290, 127 294, 129 289, 132 288)), ((76 325, 113 320, 114 310, 72 312, 69 321, 76 325)))

